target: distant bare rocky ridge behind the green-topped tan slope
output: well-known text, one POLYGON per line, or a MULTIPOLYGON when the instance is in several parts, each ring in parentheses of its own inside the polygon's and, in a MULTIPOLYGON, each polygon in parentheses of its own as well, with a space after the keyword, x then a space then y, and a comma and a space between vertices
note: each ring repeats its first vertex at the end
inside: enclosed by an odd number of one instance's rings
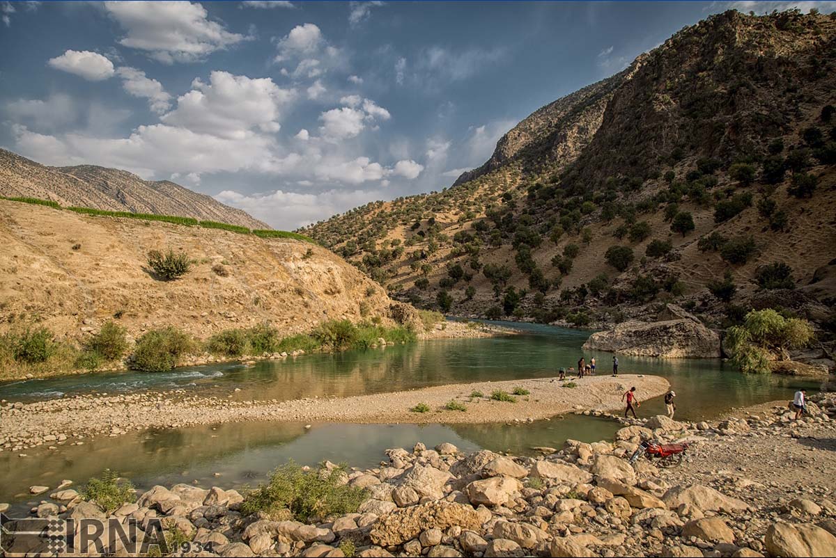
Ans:
POLYGON ((95 165, 39 165, 7 150, 0 150, 0 195, 107 211, 194 217, 252 229, 270 228, 244 211, 170 180, 142 180, 126 170, 95 165))

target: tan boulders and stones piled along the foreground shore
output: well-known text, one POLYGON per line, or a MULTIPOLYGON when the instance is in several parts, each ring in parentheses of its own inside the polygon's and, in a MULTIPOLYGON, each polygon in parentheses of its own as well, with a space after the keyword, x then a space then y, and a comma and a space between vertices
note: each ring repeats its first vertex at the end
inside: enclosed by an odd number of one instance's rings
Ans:
MULTIPOLYGON (((745 433, 832 428, 811 405, 799 425, 772 416, 679 423, 654 417, 620 429, 613 442, 568 440, 545 457, 482 450, 461 454, 452 444, 389 449, 381 466, 351 470, 344 482, 369 491, 354 513, 309 525, 259 512, 242 514, 242 495, 218 487, 155 486, 114 516, 148 525, 164 518, 201 555, 301 556, 808 556, 836 553, 836 504, 797 497, 782 509, 737 498, 736 486, 695 482, 686 474, 628 462, 642 439, 690 440, 695 447, 745 433), (723 490, 717 490, 714 484, 723 490)), ((719 479, 719 476, 718 476, 719 479)), ((745 481, 745 482, 744 482, 745 481)), ((40 517, 104 517, 75 490, 58 490, 33 508, 40 517)), ((41 493, 47 487, 33 487, 41 493)), ((124 548, 110 549, 125 554, 124 548)))

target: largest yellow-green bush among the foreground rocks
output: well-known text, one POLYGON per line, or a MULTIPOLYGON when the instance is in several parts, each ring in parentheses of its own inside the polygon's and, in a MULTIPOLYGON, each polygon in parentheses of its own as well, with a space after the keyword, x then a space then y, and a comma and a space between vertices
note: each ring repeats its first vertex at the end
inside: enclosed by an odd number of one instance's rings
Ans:
POLYGON ((368 497, 368 490, 341 484, 344 475, 344 466, 327 469, 323 464, 306 472, 291 461, 274 470, 267 484, 247 492, 242 513, 263 512, 269 517, 281 516, 284 511, 302 523, 354 513, 368 497))

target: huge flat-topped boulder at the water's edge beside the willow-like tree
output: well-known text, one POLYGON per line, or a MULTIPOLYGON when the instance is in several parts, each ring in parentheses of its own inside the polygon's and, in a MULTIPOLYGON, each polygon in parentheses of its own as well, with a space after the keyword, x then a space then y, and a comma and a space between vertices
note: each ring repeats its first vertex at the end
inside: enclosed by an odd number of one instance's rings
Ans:
POLYGON ((689 318, 664 322, 630 320, 595 332, 585 351, 609 351, 639 357, 720 358, 720 336, 689 318))

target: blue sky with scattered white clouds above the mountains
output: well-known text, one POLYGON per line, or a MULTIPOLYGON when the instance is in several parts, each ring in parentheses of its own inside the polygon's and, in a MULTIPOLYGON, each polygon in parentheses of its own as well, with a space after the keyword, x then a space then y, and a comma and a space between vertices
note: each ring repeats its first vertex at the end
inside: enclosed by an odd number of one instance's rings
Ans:
POLYGON ((0 2, 0 146, 293 229, 441 190, 710 13, 833 2, 0 2))

